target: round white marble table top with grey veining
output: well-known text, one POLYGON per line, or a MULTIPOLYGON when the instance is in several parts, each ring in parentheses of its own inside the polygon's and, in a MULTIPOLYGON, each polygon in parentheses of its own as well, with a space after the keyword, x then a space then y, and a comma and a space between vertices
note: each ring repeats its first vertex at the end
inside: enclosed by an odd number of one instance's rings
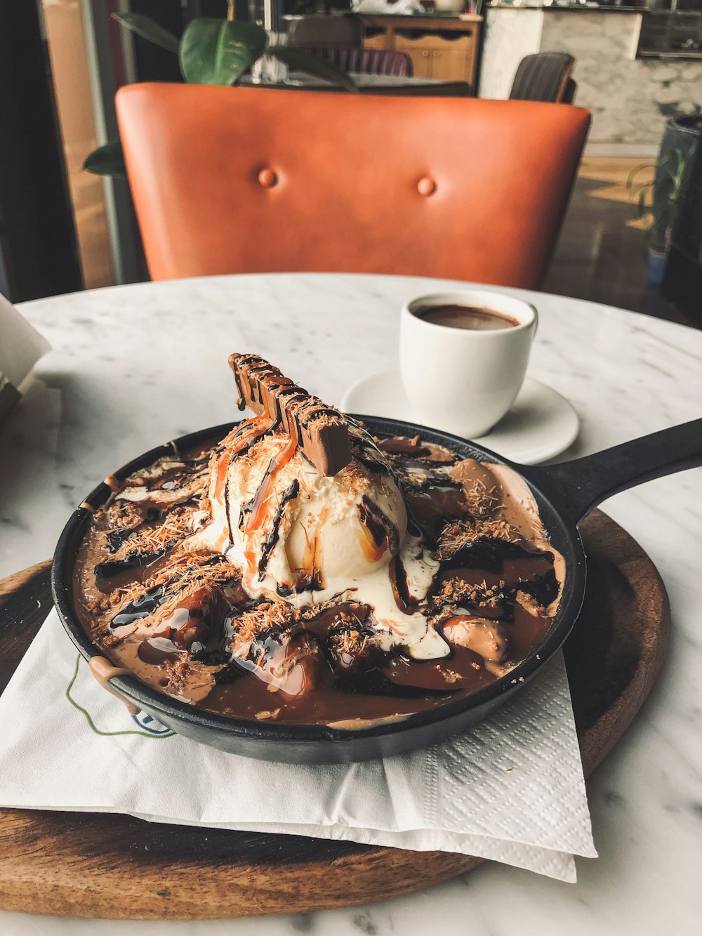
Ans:
MULTIPOLYGON (((274 274, 117 286, 24 303, 53 350, 0 426, 0 576, 51 554, 71 510, 115 467, 169 438, 237 416, 227 356, 256 351, 328 402, 393 366, 402 303, 456 284, 404 277, 274 274)), ((702 416, 702 332, 558 296, 540 315, 529 374, 578 411, 562 459, 702 416)), ((4 936, 215 936, 390 932, 471 936, 680 936, 702 917, 702 470, 607 501, 651 556, 673 636, 650 699, 588 782, 598 859, 578 884, 487 864, 445 885, 365 907, 203 923, 0 913, 4 936)))

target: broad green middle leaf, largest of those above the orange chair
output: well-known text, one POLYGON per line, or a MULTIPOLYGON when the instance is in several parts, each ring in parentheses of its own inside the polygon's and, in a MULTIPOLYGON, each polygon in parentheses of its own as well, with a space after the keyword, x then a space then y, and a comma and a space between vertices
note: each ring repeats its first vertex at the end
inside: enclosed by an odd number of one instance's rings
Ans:
POLYGON ((181 40, 181 69, 191 84, 235 84, 266 48, 266 30, 253 22, 201 17, 181 40))

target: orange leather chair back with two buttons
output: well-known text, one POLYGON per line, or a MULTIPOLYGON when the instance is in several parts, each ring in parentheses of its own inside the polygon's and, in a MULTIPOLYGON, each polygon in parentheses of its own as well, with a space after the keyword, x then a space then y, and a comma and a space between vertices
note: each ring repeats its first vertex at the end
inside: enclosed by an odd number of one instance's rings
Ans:
POLYGON ((133 84, 117 95, 155 280, 397 273, 536 287, 587 110, 531 101, 133 84))

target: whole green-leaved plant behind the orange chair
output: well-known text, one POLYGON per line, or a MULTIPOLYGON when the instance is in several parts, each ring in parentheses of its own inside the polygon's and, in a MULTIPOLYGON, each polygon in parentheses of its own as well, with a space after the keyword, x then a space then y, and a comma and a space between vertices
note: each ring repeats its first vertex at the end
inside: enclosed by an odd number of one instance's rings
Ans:
MULTIPOLYGON (((270 44, 266 30, 253 22, 234 19, 234 0, 228 0, 227 19, 197 17, 191 20, 180 39, 160 23, 141 13, 112 13, 126 29, 178 56, 183 79, 191 84, 238 84, 260 59, 272 56, 289 68, 324 78, 358 92, 358 86, 344 71, 295 47, 270 44)), ((124 154, 119 140, 106 143, 89 154, 83 168, 96 175, 126 178, 124 154)))

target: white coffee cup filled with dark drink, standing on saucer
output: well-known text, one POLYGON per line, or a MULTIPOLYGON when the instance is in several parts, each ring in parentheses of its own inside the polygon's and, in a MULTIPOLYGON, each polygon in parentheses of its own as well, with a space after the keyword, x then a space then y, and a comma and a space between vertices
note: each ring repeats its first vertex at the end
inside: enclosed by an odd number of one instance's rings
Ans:
POLYGON ((517 399, 536 324, 529 302, 487 289, 408 302, 400 322, 400 373, 417 421, 466 438, 489 432, 517 399), (484 310, 516 324, 473 329, 421 317, 436 306, 484 310))

